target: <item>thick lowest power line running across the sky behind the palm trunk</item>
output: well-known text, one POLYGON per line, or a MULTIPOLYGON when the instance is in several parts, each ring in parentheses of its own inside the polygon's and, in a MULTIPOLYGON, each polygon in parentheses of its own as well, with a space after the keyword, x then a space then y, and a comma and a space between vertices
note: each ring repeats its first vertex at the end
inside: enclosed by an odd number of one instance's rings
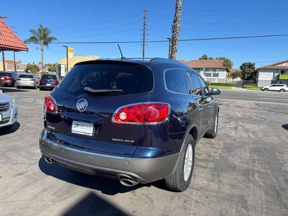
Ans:
MULTIPOLYGON (((219 37, 219 38, 197 38, 197 39, 182 39, 178 41, 193 41, 193 40, 225 40, 225 39, 241 39, 241 38, 260 38, 260 37, 279 37, 279 36, 288 36, 288 34, 283 35, 254 35, 254 36, 240 36, 240 37, 219 37)), ((149 43, 158 43, 158 42, 169 42, 169 40, 152 40, 149 43)), ((67 41, 67 42, 51 42, 51 44, 116 44, 116 43, 139 43, 139 41, 103 41, 103 42, 77 42, 77 41, 67 41)), ((35 44, 35 43, 28 43, 35 44)))

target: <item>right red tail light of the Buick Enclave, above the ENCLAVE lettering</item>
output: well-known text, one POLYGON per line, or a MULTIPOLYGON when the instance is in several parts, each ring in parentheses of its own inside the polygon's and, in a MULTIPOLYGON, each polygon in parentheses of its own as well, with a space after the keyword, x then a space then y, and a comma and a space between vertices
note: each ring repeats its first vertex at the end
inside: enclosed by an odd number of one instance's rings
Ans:
POLYGON ((168 116, 169 105, 165 103, 141 103, 127 105, 116 110, 113 122, 159 123, 168 116))

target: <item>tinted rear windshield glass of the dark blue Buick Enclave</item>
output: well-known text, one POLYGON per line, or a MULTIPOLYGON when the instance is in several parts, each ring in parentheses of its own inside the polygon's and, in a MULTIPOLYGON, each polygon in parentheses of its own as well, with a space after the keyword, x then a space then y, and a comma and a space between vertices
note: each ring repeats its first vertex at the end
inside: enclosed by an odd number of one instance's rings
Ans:
POLYGON ((150 92, 153 73, 148 68, 128 64, 83 64, 74 66, 64 77, 59 89, 75 96, 87 94, 84 87, 92 89, 120 89, 102 96, 120 96, 150 92))

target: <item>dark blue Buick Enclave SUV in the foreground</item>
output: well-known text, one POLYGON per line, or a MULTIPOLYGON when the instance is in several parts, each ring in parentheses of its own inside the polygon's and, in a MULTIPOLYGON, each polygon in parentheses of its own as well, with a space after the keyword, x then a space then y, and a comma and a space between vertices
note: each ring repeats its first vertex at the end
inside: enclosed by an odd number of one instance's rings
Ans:
POLYGON ((217 134, 219 103, 177 61, 77 63, 45 97, 39 146, 46 162, 134 186, 164 179, 186 190, 201 137, 217 134))

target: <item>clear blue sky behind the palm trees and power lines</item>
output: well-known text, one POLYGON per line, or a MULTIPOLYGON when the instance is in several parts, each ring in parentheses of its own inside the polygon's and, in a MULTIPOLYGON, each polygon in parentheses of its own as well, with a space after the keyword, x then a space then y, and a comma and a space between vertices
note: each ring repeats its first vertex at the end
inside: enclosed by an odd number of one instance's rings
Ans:
MULTIPOLYGON (((142 56, 140 29, 142 28, 143 9, 149 11, 147 13, 149 40, 165 40, 170 37, 175 0, 3 0, 0 7, 0 15, 4 16, 7 14, 9 16, 4 21, 9 26, 17 26, 15 31, 17 31, 17 35, 22 40, 29 37, 28 29, 36 29, 38 24, 41 23, 43 26, 52 29, 52 35, 57 37, 59 41, 139 40, 139 43, 136 44, 120 44, 124 56, 136 57, 142 56), (128 16, 134 17, 125 18, 128 16), (116 19, 120 20, 111 21, 116 19), (95 24, 99 22, 105 23, 95 24), (95 25, 73 27, 88 24, 95 25)), ((179 39, 288 34, 288 1, 183 0, 181 29, 179 39), (252 15, 249 13, 260 14, 252 15)), ((191 59, 198 59, 202 54, 207 54, 208 56, 225 56, 231 59, 234 62, 234 68, 239 68, 241 63, 245 61, 256 62, 256 66, 259 67, 288 59, 287 42, 288 36, 179 42, 177 59, 190 61, 191 59)), ((117 44, 75 44, 68 46, 74 47, 75 54, 78 55, 98 55, 101 58, 120 57, 117 44)), ((66 57, 64 53, 51 51, 65 52, 65 48, 61 45, 51 44, 49 49, 44 51, 44 63, 59 62, 59 59, 66 57)), ((5 56, 6 59, 13 59, 12 52, 5 52, 5 56)), ((149 43, 146 46, 145 56, 167 58, 168 43, 149 43)), ((29 46, 29 52, 17 53, 16 59, 21 59, 23 63, 32 63, 33 61, 37 63, 41 60, 40 50, 35 50, 34 47, 29 46)))

